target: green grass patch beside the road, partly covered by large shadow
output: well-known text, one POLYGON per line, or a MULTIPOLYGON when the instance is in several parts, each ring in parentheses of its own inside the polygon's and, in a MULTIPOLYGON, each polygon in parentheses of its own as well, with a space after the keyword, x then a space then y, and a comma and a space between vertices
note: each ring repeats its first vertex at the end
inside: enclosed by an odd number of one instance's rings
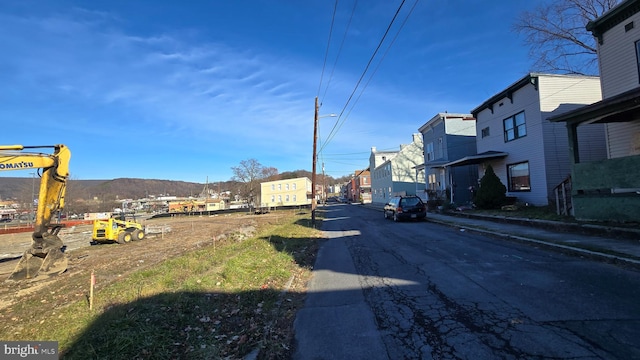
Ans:
MULTIPOLYGON (((166 260, 54 311, 12 308, 4 339, 57 340, 62 359, 287 358, 296 311, 321 239, 303 215, 280 217, 255 237, 166 260)), ((34 297, 41 298, 41 297, 34 297)))

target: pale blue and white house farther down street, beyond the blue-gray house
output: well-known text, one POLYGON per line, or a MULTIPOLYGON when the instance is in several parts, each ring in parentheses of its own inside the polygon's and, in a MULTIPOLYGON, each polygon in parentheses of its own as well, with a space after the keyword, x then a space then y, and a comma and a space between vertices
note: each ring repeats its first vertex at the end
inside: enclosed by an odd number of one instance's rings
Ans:
POLYGON ((412 142, 400 145, 399 151, 378 152, 372 147, 369 155, 371 201, 384 204, 393 196, 424 192, 424 172, 416 172, 424 163, 423 151, 421 134, 413 134, 412 142))

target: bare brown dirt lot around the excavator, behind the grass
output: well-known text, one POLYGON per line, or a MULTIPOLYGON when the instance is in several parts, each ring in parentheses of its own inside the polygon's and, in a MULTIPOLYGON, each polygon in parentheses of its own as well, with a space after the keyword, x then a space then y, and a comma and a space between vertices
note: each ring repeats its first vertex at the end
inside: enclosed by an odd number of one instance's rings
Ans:
POLYGON ((78 226, 61 231, 69 258, 67 271, 59 276, 34 282, 5 282, 13 271, 17 260, 31 243, 31 234, 0 235, 0 318, 11 317, 11 305, 29 297, 37 290, 57 292, 59 304, 73 301, 77 291, 65 283, 72 276, 86 274, 89 282, 94 271, 97 286, 106 284, 134 270, 145 268, 183 252, 204 245, 215 244, 226 237, 246 237, 255 233, 264 224, 274 223, 284 214, 228 214, 215 216, 180 216, 150 219, 143 224, 150 229, 142 241, 126 245, 91 245, 91 226, 78 226), (153 233, 156 232, 156 233, 153 233))

